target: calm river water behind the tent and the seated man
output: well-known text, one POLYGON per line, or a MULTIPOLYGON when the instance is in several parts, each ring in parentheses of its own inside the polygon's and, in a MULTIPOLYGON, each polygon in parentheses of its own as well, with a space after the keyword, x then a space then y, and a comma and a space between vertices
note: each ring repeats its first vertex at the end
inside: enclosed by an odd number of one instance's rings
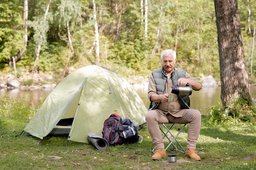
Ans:
MULTIPOLYGON (((216 88, 202 88, 200 91, 192 91, 192 95, 190 96, 191 100, 191 108, 195 108, 200 110, 202 115, 208 114, 208 108, 213 106, 217 102, 221 103, 220 99, 220 87, 216 88)), ((146 88, 138 88, 135 89, 138 95, 141 97, 145 105, 149 106, 149 99, 147 95, 146 88)), ((250 86, 250 91, 253 98, 256 98, 256 86, 250 86)), ((24 91, 19 89, 13 89, 9 91, 0 90, 0 96, 7 95, 10 97, 20 97, 24 98, 25 101, 31 106, 37 106, 39 103, 39 99, 45 99, 51 90, 34 90, 34 91, 24 91)))

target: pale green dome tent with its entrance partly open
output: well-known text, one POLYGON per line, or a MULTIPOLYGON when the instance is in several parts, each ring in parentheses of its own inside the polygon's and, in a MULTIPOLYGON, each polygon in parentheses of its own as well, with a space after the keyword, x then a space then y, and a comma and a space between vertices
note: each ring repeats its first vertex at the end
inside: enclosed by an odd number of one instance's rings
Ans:
POLYGON ((68 135, 70 141, 89 144, 87 133, 102 136, 112 113, 128 117, 139 128, 148 109, 124 78, 101 66, 85 66, 65 77, 45 99, 24 131, 43 139, 68 135))

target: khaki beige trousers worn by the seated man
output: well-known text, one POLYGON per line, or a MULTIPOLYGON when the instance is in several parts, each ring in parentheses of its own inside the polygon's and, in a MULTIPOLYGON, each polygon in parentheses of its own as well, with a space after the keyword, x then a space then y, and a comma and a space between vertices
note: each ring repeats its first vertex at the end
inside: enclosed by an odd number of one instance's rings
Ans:
POLYGON ((189 124, 186 148, 195 149, 201 128, 201 113, 199 110, 195 109, 182 109, 178 112, 183 112, 183 117, 174 117, 171 114, 166 114, 159 109, 150 110, 146 114, 148 132, 156 149, 164 148, 162 132, 159 129, 158 124, 169 122, 176 124, 189 124))

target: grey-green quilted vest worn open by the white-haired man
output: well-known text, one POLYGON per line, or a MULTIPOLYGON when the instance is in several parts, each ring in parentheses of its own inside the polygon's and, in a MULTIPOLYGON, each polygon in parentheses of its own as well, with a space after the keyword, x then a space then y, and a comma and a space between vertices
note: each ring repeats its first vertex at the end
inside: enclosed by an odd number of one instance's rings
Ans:
MULTIPOLYGON (((185 73, 186 72, 184 70, 179 69, 179 68, 175 68, 173 70, 173 73, 172 73, 173 85, 177 84, 179 78, 184 78, 185 73)), ((167 82, 167 77, 164 75, 163 68, 159 68, 159 69, 153 71, 152 75, 153 75, 154 80, 155 80, 157 94, 158 95, 164 94, 165 86, 166 86, 166 82, 167 82)), ((181 103, 181 106, 182 106, 183 109, 184 108, 190 108, 189 95, 178 95, 178 97, 180 99, 180 103, 181 103)), ((157 106, 159 105, 159 103, 155 103, 153 101, 150 102, 149 110, 156 109, 157 106)))

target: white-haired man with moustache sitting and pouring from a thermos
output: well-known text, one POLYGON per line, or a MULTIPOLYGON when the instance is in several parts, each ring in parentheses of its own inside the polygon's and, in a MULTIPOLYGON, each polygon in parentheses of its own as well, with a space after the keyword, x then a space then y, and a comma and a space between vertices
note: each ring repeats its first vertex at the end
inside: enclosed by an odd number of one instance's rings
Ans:
POLYGON ((190 84, 193 90, 200 90, 202 84, 191 77, 184 70, 175 68, 176 52, 167 49, 161 53, 162 68, 153 71, 149 77, 148 98, 150 108, 146 114, 148 132, 155 145, 153 160, 160 160, 166 156, 162 133, 159 123, 190 124, 186 143, 186 157, 200 161, 195 152, 195 145, 201 128, 201 113, 190 109, 188 95, 175 95, 171 87, 190 84), (174 102, 168 102, 168 95, 175 95, 174 102))

